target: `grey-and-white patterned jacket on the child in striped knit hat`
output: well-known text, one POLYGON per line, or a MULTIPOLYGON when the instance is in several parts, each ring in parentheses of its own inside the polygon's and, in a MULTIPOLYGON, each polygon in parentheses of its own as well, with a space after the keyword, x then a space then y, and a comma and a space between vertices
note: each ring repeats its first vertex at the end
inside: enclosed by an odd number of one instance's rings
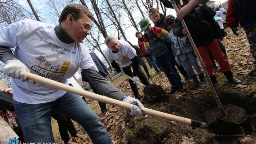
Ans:
POLYGON ((171 32, 169 33, 169 39, 172 44, 172 53, 175 56, 193 51, 193 47, 190 44, 187 35, 181 37, 174 36, 173 30, 171 30, 171 32))

